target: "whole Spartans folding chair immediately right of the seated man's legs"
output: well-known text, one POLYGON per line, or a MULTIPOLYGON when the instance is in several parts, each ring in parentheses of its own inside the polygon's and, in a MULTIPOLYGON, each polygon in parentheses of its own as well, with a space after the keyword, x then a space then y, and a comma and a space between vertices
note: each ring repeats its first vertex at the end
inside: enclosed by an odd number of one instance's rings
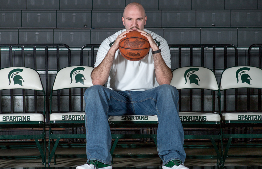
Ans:
MULTIPOLYGON (((171 85, 178 90, 189 90, 189 107, 184 110, 181 106, 179 117, 184 128, 185 139, 208 139, 211 140, 212 145, 184 145, 184 148, 208 148, 213 149, 204 156, 187 155, 186 158, 203 158, 203 159, 217 159, 217 165, 223 163, 219 144, 221 142, 221 111, 220 111, 220 91, 217 84, 215 74, 212 70, 204 67, 181 67, 173 71, 173 78, 171 85), (200 99, 199 91, 203 92, 203 100, 200 99), (217 101, 215 97, 217 95, 217 101), (191 97, 191 98, 190 98, 191 97), (198 99, 199 98, 199 99, 198 99), (200 103, 200 100, 201 103, 200 103), (201 106, 199 106, 200 104, 201 106), (217 107, 216 107, 217 106, 217 107), (197 108, 201 107, 201 108, 197 108), (198 132, 199 130, 199 132, 198 132), (207 130, 209 132, 207 132, 207 130), (190 132, 195 131, 195 132, 190 132), (195 134, 198 133, 198 134, 195 134), (216 143, 217 142, 217 143, 216 143), (215 150, 215 151, 214 151, 215 150), (220 163, 219 163, 220 161, 220 163)), ((187 96, 182 95, 181 102, 187 101, 187 96)), ((181 103, 181 105, 183 105, 181 103)))

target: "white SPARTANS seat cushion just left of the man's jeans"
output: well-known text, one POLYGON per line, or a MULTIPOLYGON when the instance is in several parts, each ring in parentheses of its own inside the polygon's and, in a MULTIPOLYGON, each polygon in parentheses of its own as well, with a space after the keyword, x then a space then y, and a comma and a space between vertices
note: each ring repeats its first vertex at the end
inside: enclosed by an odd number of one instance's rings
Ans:
POLYGON ((76 121, 85 120, 85 112, 52 113, 50 121, 76 121))

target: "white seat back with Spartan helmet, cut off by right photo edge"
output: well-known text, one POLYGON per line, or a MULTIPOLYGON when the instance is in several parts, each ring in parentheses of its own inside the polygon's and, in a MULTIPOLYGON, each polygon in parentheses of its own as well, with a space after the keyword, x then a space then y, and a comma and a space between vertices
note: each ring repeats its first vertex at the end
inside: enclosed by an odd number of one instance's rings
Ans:
POLYGON ((252 66, 235 66, 221 74, 220 90, 233 88, 262 88, 262 69, 252 66))

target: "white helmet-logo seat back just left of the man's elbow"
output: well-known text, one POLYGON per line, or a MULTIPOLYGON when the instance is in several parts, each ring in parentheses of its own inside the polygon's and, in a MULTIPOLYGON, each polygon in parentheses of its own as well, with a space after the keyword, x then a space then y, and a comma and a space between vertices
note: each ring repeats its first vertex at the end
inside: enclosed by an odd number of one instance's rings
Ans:
POLYGON ((57 72, 53 84, 53 90, 68 88, 89 88, 92 86, 91 72, 93 68, 89 66, 70 66, 57 72))

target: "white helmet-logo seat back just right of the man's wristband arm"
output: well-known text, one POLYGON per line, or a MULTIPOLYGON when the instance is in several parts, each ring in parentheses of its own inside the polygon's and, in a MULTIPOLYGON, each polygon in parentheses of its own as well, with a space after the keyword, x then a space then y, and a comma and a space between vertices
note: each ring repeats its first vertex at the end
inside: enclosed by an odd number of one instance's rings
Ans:
POLYGON ((215 74, 208 68, 181 67, 173 71, 172 86, 177 89, 219 90, 215 74))

